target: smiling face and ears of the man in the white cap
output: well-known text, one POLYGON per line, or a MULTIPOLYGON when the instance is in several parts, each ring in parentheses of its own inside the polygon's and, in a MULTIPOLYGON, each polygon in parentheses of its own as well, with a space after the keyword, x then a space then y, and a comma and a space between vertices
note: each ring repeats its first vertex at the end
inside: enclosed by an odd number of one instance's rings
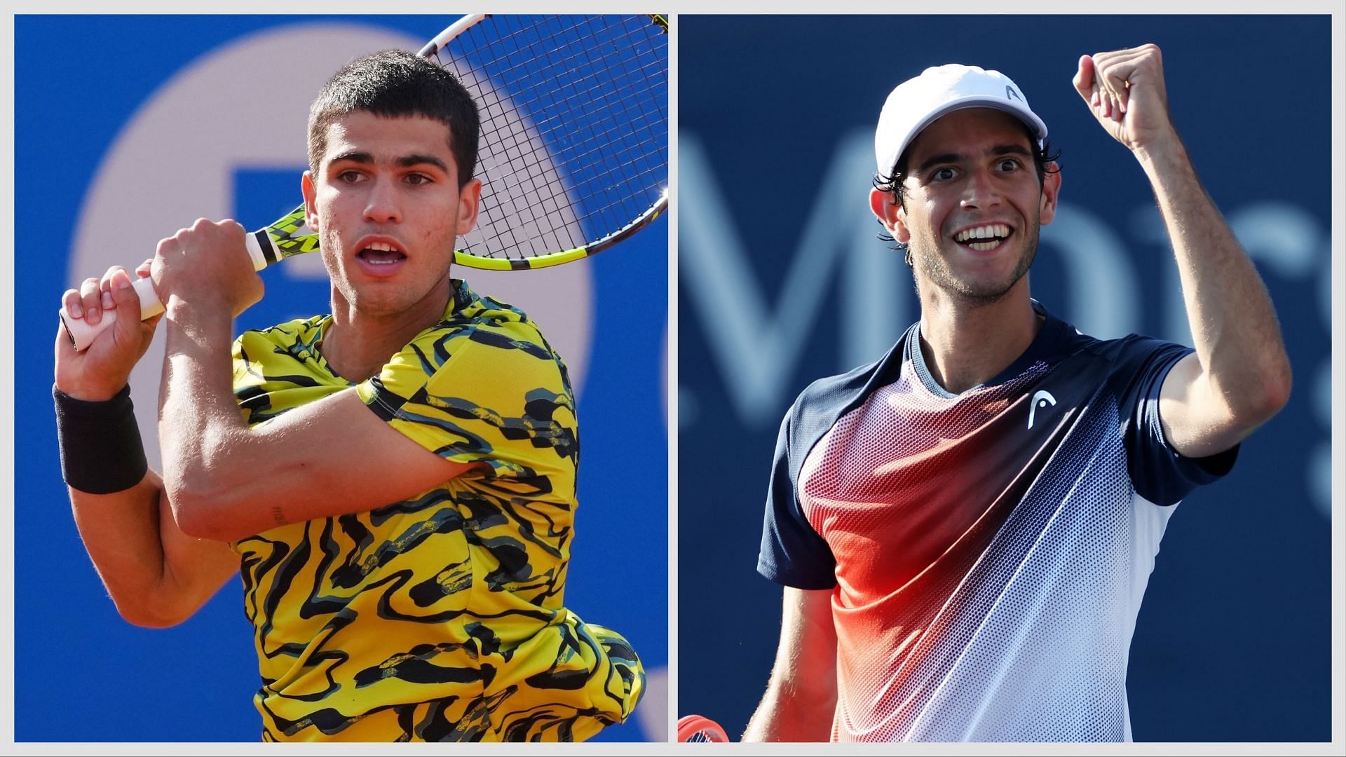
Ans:
POLYGON ((1055 216, 1061 175, 1042 183, 1023 124, 991 108, 954 110, 907 148, 905 199, 879 193, 874 211, 910 245, 922 294, 999 302, 1027 273, 1038 229, 1055 216))

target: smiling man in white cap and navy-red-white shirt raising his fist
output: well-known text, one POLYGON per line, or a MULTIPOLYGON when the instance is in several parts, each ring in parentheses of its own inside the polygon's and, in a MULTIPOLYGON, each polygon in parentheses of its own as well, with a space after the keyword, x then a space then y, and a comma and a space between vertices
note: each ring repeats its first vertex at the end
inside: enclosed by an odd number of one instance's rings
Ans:
POLYGON ((1084 55, 1074 86, 1149 178, 1195 350, 1100 341, 1031 298, 1062 178, 1014 81, 946 65, 898 85, 870 199, 921 321, 781 426, 758 571, 785 586, 782 634, 746 741, 1131 741, 1128 652, 1168 517, 1285 404, 1291 370, 1159 48, 1084 55))

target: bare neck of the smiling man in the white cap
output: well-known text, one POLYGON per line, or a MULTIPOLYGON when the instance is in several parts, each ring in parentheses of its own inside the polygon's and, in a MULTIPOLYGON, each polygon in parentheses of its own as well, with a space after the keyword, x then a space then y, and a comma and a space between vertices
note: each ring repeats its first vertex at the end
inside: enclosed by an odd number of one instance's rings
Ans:
POLYGON ((1000 374, 1044 321, 1032 310, 1027 276, 993 303, 968 303, 930 286, 921 290, 921 352, 934 380, 954 395, 1000 374))

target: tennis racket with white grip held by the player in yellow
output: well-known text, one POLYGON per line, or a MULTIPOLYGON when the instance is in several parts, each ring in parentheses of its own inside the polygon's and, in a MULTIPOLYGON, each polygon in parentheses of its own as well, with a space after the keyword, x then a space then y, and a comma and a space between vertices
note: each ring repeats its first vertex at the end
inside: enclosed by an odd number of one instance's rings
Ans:
MULTIPOLYGON (((476 101, 481 211, 454 263, 528 271, 596 255, 668 207, 668 19, 463 16, 421 50, 476 101)), ((300 205, 248 234, 261 271, 318 249, 300 205)), ((163 312, 135 279, 140 318, 163 312)), ((77 350, 97 326, 61 311, 77 350)))

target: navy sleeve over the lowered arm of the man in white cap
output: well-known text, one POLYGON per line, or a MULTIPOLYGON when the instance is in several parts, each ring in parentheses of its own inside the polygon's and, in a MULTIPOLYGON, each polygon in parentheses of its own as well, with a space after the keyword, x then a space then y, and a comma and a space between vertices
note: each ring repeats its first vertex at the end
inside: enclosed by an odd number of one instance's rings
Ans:
POLYGON ((836 559, 832 548, 809 525, 800 508, 795 489, 797 466, 791 465, 790 430, 794 408, 781 422, 767 484, 766 516, 762 524, 762 548, 758 572, 795 589, 832 589, 836 586, 836 559))

